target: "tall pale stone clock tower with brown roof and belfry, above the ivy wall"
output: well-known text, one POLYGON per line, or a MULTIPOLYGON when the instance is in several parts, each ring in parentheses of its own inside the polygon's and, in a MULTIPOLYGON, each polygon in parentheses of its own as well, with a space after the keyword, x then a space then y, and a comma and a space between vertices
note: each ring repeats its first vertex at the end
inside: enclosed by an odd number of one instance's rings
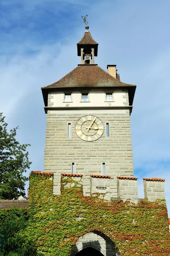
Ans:
MULTIPOLYGON (((118 197, 117 177, 133 177, 130 114, 136 86, 120 81, 116 65, 95 64, 98 43, 89 26, 77 44, 80 64, 59 81, 42 87, 46 122, 44 172, 82 176, 84 195, 118 197)), ((136 192, 137 193, 137 192, 136 192)), ((137 196, 137 195, 135 195, 137 196)))

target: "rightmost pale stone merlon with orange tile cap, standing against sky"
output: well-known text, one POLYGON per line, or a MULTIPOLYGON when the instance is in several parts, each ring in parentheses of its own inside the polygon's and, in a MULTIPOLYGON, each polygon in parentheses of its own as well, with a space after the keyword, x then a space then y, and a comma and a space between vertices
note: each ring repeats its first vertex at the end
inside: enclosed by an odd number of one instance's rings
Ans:
POLYGON ((165 199, 164 179, 160 178, 143 178, 144 180, 144 198, 148 201, 156 199, 165 199))

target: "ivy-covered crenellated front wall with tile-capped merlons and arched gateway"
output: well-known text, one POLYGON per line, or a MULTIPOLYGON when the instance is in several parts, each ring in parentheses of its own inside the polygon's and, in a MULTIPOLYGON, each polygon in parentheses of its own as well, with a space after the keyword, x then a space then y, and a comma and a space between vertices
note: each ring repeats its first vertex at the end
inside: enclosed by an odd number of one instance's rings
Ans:
MULTIPOLYGON (((137 178, 124 176, 116 177, 119 198, 109 198, 112 179, 103 175, 89 176, 91 195, 84 196, 83 177, 62 173, 61 195, 55 195, 52 172, 31 172, 29 212, 32 218, 23 232, 36 243, 38 253, 75 256, 92 252, 95 255, 97 251, 104 256, 151 256, 155 252, 157 256, 170 255, 164 200, 138 202, 137 178)), ((152 188, 163 188, 164 180, 144 180, 146 184, 155 184, 152 188)), ((145 192, 149 192, 149 185, 145 192)), ((157 197, 162 199, 162 194, 157 197)))

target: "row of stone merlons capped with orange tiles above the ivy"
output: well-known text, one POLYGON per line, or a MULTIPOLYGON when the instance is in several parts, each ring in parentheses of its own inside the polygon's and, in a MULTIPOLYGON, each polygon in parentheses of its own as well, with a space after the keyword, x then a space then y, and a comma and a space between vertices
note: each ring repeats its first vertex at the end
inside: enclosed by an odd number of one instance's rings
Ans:
MULTIPOLYGON (((37 175, 53 176, 52 172, 32 172, 37 175)), ((136 177, 116 177, 115 179, 107 175, 89 175, 86 177, 82 174, 61 173, 61 193, 63 189, 76 188, 81 189, 84 196, 92 195, 109 201, 130 200, 138 204, 138 188, 136 177), (88 182, 89 181, 89 182, 88 182), (111 192, 115 187, 114 193, 111 192)), ((164 196, 164 179, 160 178, 143 178, 144 180, 144 199, 146 201, 156 201, 165 199, 164 196)), ((51 187, 50 187, 51 188, 51 187)), ((52 191, 51 191, 52 192, 52 191)))

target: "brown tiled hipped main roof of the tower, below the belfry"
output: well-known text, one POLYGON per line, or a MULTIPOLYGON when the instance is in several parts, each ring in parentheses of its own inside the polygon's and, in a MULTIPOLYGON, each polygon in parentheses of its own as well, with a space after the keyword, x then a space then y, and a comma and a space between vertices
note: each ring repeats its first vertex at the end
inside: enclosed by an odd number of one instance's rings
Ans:
POLYGON ((62 79, 41 89, 66 87, 136 87, 134 84, 125 84, 97 65, 78 65, 62 79))

